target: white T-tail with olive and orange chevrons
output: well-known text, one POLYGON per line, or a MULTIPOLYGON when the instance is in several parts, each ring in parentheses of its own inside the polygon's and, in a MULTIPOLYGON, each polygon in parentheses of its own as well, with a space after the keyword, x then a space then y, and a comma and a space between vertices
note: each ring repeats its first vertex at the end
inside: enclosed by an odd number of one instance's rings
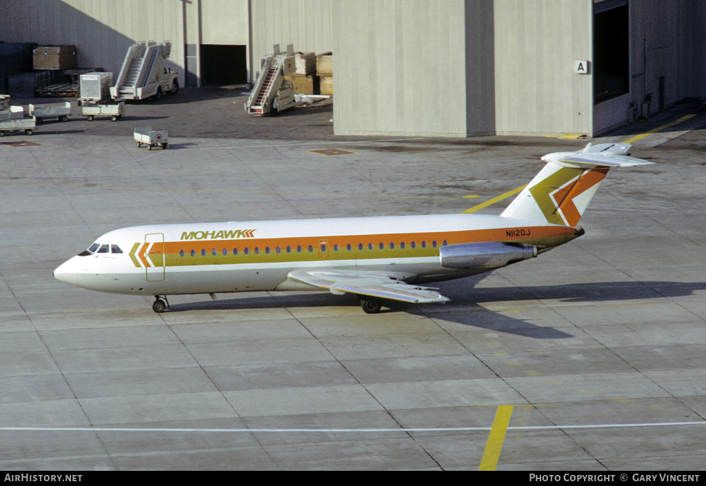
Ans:
POLYGON ((589 143, 578 152, 544 155, 547 164, 501 216, 577 227, 611 167, 654 163, 630 157, 630 147, 629 143, 589 143))

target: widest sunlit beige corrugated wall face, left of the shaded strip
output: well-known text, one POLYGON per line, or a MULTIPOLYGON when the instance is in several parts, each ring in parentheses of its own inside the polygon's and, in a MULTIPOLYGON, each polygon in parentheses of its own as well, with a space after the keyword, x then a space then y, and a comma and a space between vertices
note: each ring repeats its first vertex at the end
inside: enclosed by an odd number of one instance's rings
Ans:
POLYGON ((465 2, 334 6, 335 134, 466 136, 465 2))

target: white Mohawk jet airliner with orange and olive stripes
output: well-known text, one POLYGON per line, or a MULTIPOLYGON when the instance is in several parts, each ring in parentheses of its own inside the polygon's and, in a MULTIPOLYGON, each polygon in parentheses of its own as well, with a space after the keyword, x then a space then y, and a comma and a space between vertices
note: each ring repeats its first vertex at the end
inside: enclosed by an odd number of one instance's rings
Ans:
MULTIPOLYGON (((78 287, 154 295, 328 290, 365 312, 381 300, 445 302, 421 284, 531 259, 584 234, 578 226, 611 167, 652 164, 630 145, 604 143, 544 155, 546 165, 496 215, 419 215, 128 227, 106 233, 56 268, 78 287)), ((167 300, 165 304, 164 300, 167 300)))

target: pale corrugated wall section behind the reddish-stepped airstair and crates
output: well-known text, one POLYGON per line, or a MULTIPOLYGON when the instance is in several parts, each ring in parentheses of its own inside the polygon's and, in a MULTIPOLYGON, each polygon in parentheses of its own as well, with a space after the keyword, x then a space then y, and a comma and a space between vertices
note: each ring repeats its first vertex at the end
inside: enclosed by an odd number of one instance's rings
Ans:
POLYGON ((260 71, 260 59, 279 44, 295 51, 333 50, 331 8, 335 0, 251 0, 251 73, 260 71))

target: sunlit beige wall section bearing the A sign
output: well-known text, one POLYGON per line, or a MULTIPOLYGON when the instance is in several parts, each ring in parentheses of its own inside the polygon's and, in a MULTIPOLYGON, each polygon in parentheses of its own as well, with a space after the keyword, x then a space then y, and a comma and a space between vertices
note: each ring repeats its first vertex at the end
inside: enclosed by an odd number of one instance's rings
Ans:
POLYGON ((495 0, 498 135, 592 134, 593 0, 495 0))

